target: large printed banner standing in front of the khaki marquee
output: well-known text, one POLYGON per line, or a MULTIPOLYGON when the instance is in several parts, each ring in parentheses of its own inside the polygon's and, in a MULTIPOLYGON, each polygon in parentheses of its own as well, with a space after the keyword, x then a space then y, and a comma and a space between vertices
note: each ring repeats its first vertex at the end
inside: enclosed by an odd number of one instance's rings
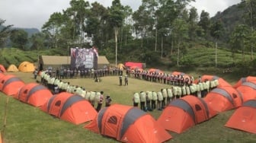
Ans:
POLYGON ((95 48, 71 48, 71 69, 85 70, 98 68, 98 51, 95 48))

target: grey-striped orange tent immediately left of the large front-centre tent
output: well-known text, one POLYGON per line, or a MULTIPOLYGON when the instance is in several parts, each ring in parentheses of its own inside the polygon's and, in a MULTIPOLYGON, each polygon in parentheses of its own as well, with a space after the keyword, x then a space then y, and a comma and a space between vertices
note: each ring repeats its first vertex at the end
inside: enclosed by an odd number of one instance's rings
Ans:
POLYGON ((50 97, 40 109, 75 125, 91 121, 97 116, 97 111, 85 98, 67 92, 50 97))

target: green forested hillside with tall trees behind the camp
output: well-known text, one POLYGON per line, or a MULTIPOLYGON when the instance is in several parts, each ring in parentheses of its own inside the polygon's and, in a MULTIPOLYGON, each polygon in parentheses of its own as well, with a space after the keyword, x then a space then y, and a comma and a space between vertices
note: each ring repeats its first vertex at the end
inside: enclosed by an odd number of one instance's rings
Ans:
MULTIPOLYGON (((113 0, 107 8, 98 2, 71 0, 69 8, 51 14, 35 33, 5 26, 5 20, 0 19, 0 50, 12 47, 69 56, 71 47, 96 46, 100 55, 115 64, 133 61, 167 68, 232 67, 253 74, 256 1, 242 0, 214 17, 190 7, 193 1, 142 0, 133 11, 120 0, 113 0)), ((30 59, 37 60, 37 54, 30 59)))

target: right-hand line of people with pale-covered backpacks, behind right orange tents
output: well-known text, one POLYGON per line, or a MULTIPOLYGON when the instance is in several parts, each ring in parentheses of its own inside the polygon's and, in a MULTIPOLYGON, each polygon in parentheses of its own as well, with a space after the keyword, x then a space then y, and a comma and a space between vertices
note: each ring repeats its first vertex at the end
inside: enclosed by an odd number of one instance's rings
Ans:
POLYGON ((144 111, 163 110, 171 100, 186 95, 205 97, 218 85, 218 80, 201 81, 199 77, 198 83, 190 86, 171 86, 170 88, 162 88, 160 91, 140 91, 133 94, 133 106, 140 106, 140 109, 144 111))

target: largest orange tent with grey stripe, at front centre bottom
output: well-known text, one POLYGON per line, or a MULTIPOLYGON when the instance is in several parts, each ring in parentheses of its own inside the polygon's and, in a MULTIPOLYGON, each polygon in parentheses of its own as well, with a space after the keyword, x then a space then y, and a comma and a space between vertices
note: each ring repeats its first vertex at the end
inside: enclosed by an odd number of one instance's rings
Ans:
POLYGON ((136 107, 120 104, 102 109, 85 129, 121 142, 160 143, 171 138, 151 115, 136 107))

